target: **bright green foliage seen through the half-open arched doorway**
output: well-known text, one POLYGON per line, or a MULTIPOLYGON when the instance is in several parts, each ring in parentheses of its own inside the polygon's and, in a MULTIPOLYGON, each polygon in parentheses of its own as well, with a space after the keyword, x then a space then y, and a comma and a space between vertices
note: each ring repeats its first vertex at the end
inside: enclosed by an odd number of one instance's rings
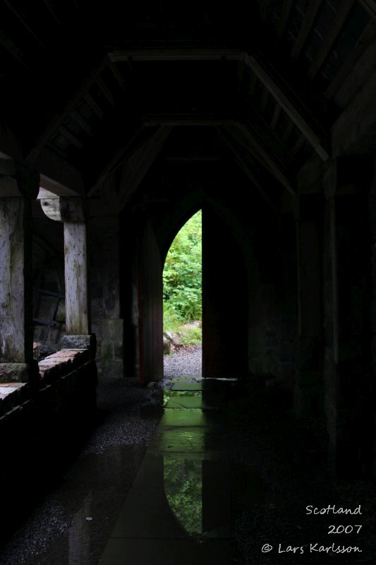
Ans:
POLYGON ((183 225, 164 263, 164 316, 181 322, 201 319, 201 216, 183 225))

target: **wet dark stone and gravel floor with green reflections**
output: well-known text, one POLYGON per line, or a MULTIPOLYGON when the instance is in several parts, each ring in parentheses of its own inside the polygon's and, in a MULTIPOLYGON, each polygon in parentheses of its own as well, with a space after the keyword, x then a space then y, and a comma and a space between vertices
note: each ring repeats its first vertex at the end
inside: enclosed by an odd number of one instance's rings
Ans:
POLYGON ((102 393, 102 424, 0 563, 375 564, 375 490, 330 482, 325 429, 297 424, 283 392, 181 377, 102 393), (362 516, 305 510, 328 504, 362 516), (328 534, 355 522, 358 534, 328 534))

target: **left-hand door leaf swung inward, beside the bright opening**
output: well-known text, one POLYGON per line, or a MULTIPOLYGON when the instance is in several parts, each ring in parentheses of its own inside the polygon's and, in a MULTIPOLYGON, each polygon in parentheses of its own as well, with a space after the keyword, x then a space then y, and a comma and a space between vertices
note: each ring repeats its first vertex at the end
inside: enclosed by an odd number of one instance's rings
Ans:
POLYGON ((162 261, 150 222, 138 248, 138 347, 142 384, 163 378, 162 261))

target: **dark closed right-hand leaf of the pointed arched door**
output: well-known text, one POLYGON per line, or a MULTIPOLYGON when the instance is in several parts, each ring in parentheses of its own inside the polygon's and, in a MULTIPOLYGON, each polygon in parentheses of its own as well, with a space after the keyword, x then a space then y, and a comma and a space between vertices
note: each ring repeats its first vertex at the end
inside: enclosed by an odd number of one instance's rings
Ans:
POLYGON ((229 225, 202 208, 202 376, 245 376, 248 278, 229 225))

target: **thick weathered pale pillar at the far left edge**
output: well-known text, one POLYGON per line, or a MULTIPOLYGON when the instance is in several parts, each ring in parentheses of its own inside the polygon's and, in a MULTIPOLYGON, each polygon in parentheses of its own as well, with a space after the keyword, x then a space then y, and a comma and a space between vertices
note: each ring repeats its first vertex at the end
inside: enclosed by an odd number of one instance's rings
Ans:
POLYGON ((12 160, 0 167, 0 382, 35 383, 31 204, 39 174, 12 160))

